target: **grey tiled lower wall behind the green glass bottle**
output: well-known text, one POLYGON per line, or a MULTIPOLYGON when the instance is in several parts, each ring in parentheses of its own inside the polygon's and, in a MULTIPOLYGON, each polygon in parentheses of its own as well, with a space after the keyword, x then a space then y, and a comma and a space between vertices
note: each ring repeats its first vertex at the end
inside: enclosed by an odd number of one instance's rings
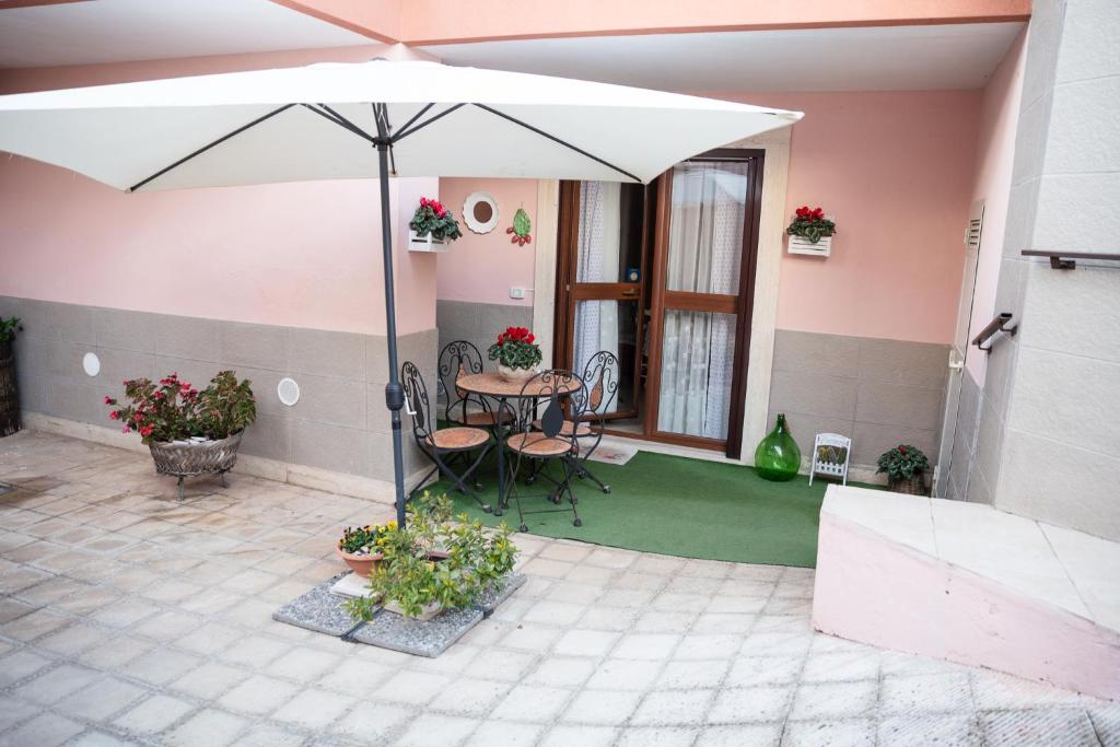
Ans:
POLYGON ((936 458, 948 345, 778 329, 769 422, 784 412, 803 454, 813 437, 852 438, 852 464, 898 443, 936 458))

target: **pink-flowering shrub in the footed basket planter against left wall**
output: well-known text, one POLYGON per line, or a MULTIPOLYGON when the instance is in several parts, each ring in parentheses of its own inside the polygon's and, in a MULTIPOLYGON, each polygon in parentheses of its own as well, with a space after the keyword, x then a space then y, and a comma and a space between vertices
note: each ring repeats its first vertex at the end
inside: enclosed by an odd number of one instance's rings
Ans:
POLYGON ((180 441, 192 437, 228 438, 256 419, 256 400, 248 379, 239 381, 232 371, 223 371, 204 390, 179 380, 177 373, 159 380, 132 379, 124 382, 129 403, 116 407, 105 398, 109 418, 120 421, 122 431, 140 433, 144 443, 180 441))

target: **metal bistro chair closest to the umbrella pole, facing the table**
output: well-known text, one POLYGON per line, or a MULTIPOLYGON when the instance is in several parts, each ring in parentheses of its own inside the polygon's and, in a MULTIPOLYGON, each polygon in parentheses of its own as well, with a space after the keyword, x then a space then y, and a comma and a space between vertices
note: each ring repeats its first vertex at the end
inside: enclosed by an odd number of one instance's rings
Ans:
POLYGON ((412 436, 420 450, 436 465, 409 493, 409 499, 423 487, 432 475, 442 473, 455 480, 455 486, 460 493, 470 495, 483 511, 489 512, 491 506, 483 503, 478 496, 482 484, 475 482, 474 485, 467 485, 467 480, 489 452, 489 431, 466 426, 438 430, 433 428, 432 408, 428 402, 428 386, 423 382, 423 376, 420 375, 420 370, 411 361, 405 361, 404 365, 401 366, 401 384, 404 387, 405 410, 412 417, 412 436), (475 449, 479 449, 479 454, 474 463, 470 463, 469 452, 475 449), (448 459, 445 458, 447 455, 454 457, 460 454, 467 455, 467 463, 469 463, 469 466, 461 474, 456 473, 448 459))

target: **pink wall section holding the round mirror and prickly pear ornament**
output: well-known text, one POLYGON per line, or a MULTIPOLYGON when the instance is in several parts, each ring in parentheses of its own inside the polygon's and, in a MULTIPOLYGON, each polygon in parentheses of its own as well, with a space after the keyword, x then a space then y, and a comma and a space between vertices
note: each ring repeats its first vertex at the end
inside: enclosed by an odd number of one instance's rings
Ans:
POLYGON ((439 258, 440 299, 532 306, 533 295, 524 300, 510 298, 510 288, 533 287, 534 245, 510 243, 505 230, 513 225, 513 214, 525 208, 536 237, 536 181, 532 179, 440 179, 444 204, 459 218, 463 239, 439 258), (498 227, 487 234, 472 233, 463 221, 463 200, 476 190, 488 192, 497 200, 498 227))

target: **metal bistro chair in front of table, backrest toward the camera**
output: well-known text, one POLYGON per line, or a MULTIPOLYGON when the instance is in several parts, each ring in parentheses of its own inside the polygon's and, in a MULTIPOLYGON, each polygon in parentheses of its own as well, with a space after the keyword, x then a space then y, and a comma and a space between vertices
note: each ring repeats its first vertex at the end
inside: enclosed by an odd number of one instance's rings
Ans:
POLYGON ((542 371, 526 381, 521 389, 521 396, 513 400, 513 403, 504 402, 502 405, 510 410, 515 423, 514 432, 505 439, 505 448, 514 455, 514 459, 512 459, 513 468, 506 476, 507 486, 504 493, 506 496, 513 496, 517 504, 521 532, 529 531, 525 524, 526 514, 567 511, 567 508, 524 510, 521 505, 522 496, 517 492, 517 475, 528 465, 533 466, 534 478, 543 477, 556 486, 556 489, 547 496, 551 502, 560 505, 567 494, 573 516, 572 524, 584 525, 576 508, 578 499, 571 491, 571 478, 578 469, 579 439, 576 429, 564 428, 564 400, 570 417, 578 421, 587 404, 586 391, 579 376, 570 371, 552 368, 542 371), (544 400, 547 400, 544 412, 540 420, 536 420, 536 412, 544 400), (534 421, 540 424, 536 430, 533 429, 534 421), (558 475, 549 471, 550 465, 559 465, 558 475))

